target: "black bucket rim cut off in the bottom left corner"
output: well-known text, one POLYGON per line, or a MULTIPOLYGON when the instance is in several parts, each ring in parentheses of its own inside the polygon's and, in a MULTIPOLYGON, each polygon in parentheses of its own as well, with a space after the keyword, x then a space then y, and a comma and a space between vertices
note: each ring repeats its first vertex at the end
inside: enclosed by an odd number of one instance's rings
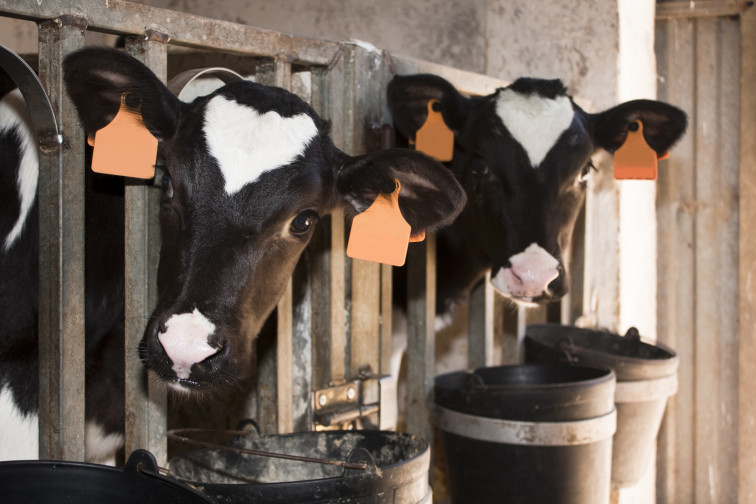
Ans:
POLYGON ((2 502, 35 504, 208 504, 208 497, 158 474, 155 457, 131 454, 124 469, 45 460, 0 462, 2 502))

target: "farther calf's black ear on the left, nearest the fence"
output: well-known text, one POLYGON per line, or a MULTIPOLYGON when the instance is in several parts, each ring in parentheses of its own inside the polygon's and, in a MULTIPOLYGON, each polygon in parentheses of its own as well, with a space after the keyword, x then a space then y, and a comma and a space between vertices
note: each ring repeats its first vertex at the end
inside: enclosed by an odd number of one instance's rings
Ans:
POLYGON ((428 101, 441 104, 441 115, 446 125, 459 131, 465 125, 471 101, 462 96, 448 81, 437 75, 418 74, 396 76, 388 85, 388 105, 394 125, 407 138, 415 133, 428 117, 428 101))

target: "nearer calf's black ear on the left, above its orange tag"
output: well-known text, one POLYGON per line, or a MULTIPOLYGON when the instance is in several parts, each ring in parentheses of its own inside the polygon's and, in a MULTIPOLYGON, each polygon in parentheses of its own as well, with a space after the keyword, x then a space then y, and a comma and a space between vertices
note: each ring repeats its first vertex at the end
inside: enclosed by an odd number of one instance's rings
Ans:
POLYGON ((141 98, 142 119, 158 140, 176 131, 181 102, 149 68, 122 51, 99 47, 76 51, 63 62, 63 79, 90 133, 113 120, 124 93, 141 98))

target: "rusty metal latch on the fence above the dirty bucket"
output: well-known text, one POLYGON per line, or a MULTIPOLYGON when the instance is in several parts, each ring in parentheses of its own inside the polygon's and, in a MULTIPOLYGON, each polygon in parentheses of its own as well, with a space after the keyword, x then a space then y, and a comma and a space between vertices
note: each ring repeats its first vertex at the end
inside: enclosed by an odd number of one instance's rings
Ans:
POLYGON ((363 378, 316 390, 315 430, 396 428, 396 380, 391 376, 363 378))

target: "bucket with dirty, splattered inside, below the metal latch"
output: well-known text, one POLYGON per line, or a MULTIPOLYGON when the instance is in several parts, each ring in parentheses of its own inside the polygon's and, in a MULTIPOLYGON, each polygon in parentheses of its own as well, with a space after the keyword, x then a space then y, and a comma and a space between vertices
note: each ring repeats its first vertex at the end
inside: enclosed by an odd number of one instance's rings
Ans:
POLYGON ((364 463, 365 469, 201 449, 174 458, 172 475, 223 504, 430 503, 428 443, 386 431, 238 436, 231 447, 364 463))

